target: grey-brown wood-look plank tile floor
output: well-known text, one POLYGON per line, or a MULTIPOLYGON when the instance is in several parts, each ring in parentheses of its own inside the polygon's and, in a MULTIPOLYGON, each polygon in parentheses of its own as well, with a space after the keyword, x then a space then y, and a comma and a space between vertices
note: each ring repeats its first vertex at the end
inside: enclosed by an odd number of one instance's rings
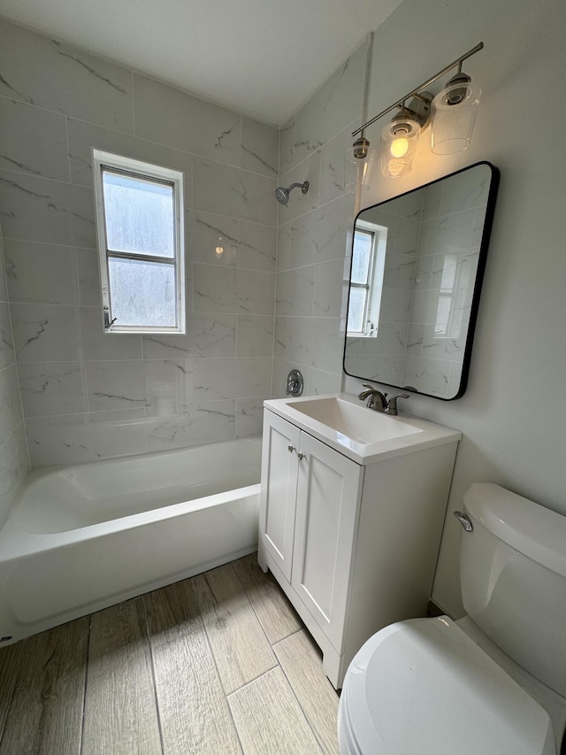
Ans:
POLYGON ((255 555, 0 651, 0 755, 337 754, 337 710, 255 555))

